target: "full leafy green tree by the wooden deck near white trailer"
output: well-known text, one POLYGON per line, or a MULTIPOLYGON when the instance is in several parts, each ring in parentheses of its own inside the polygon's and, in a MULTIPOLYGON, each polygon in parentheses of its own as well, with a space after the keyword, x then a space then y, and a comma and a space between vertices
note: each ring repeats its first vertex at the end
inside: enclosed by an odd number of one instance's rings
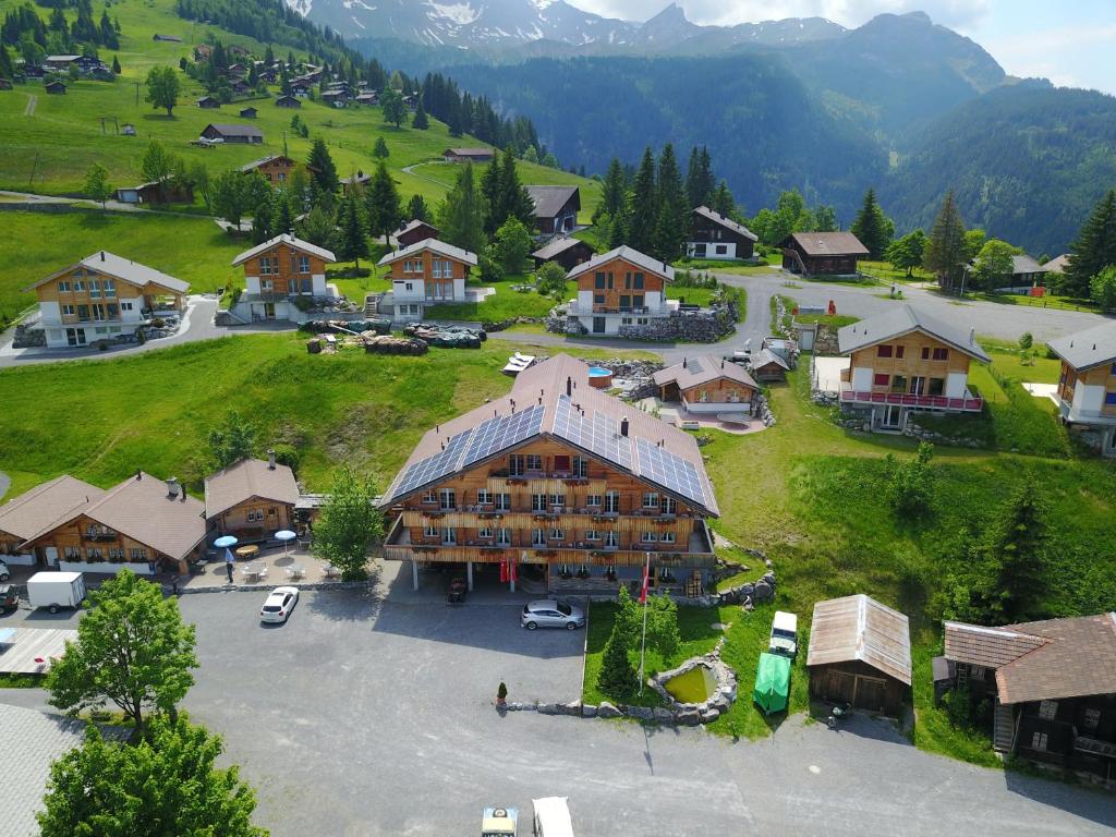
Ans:
POLYGON ((151 711, 173 714, 198 667, 194 628, 177 599, 123 569, 89 603, 77 641, 47 675, 50 704, 77 713, 113 703, 141 730, 151 711))

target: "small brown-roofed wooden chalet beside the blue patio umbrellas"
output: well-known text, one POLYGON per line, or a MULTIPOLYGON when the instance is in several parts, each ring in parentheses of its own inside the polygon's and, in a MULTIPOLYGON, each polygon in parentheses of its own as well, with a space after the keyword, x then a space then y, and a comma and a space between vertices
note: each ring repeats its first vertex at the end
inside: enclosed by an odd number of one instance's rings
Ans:
POLYGON ((295 472, 276 462, 241 460, 205 478, 205 520, 240 542, 266 541, 295 526, 298 483, 295 472))

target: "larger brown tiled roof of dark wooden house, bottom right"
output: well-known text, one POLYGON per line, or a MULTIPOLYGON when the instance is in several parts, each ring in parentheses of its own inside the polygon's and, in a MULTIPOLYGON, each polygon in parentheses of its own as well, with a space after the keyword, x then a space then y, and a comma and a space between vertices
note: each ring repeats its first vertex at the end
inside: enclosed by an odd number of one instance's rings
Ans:
POLYGON ((1042 644, 995 670, 1001 703, 1116 694, 1116 613, 1007 625, 1042 644))

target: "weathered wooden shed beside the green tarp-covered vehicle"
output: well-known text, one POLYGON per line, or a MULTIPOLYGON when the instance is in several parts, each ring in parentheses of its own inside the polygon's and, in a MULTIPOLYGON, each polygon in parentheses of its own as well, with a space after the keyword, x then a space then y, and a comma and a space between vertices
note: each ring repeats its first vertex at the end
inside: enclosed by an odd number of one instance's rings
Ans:
POLYGON ((911 694, 907 617, 863 593, 818 602, 806 666, 816 700, 896 716, 911 694))

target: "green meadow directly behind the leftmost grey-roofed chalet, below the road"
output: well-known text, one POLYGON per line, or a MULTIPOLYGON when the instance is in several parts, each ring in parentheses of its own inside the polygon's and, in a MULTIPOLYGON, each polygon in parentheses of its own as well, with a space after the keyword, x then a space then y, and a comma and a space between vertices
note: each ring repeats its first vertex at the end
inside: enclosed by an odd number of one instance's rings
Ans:
POLYGON ((0 272, 0 311, 15 315, 35 304, 22 288, 99 249, 147 264, 190 282, 193 292, 243 282, 233 258, 251 247, 222 232, 212 219, 155 213, 30 212, 0 214, 6 240, 6 269, 0 272), (18 247, 16 242, 33 242, 18 247))

